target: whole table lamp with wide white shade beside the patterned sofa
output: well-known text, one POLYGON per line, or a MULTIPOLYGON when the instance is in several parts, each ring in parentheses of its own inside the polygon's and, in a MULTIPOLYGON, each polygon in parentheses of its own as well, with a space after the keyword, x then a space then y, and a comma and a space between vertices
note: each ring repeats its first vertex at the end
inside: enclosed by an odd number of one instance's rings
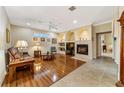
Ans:
POLYGON ((23 60, 23 50, 27 49, 28 47, 28 43, 24 40, 19 40, 16 43, 16 47, 18 48, 19 52, 20 52, 20 60, 23 60))

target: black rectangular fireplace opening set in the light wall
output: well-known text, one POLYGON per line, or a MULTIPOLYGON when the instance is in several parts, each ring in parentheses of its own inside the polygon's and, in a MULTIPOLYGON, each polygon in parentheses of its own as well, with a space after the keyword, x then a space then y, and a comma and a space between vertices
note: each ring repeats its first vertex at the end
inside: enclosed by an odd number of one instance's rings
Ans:
POLYGON ((88 55, 88 44, 77 44, 77 53, 88 55))

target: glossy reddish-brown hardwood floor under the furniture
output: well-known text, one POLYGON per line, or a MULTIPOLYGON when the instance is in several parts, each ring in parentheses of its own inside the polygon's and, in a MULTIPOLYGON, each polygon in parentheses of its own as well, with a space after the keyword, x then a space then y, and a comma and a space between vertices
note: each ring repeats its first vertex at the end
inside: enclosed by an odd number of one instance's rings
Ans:
POLYGON ((28 69, 17 71, 12 83, 7 83, 6 76, 3 87, 48 87, 84 63, 65 55, 56 55, 53 61, 37 58, 34 75, 28 69))

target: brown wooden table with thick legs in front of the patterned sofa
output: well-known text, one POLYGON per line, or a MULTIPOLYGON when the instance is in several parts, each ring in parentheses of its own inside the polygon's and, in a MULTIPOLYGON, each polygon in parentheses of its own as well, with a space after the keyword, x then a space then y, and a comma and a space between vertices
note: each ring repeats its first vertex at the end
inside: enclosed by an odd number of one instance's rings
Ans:
POLYGON ((21 66, 30 66, 30 72, 34 74, 34 58, 26 57, 24 60, 15 59, 9 64, 8 82, 13 81, 13 75, 16 73, 16 68, 21 66))

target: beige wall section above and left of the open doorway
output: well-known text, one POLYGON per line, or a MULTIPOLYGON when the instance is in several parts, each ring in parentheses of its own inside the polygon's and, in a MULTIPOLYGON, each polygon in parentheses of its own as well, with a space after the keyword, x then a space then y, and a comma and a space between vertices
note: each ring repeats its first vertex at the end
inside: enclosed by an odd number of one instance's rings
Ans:
POLYGON ((112 22, 93 26, 93 58, 96 58, 97 56, 96 34, 102 32, 109 32, 109 31, 112 31, 112 22))

